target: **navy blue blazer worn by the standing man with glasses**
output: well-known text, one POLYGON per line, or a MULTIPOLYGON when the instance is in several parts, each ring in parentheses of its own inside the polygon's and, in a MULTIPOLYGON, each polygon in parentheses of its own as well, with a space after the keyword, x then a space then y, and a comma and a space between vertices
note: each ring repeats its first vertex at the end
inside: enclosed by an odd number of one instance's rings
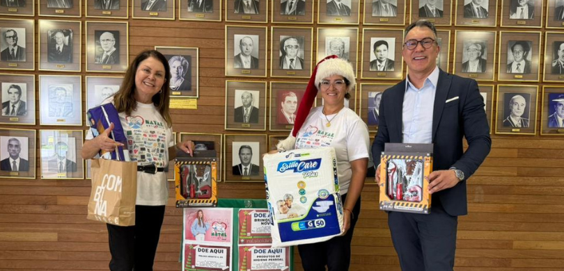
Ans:
MULTIPOLYGON (((402 142, 405 84, 405 80, 401 81, 382 94, 378 133, 372 145, 372 156, 375 159, 384 151, 385 142, 402 142)), ((440 70, 432 125, 433 170, 456 167, 464 172, 464 181, 453 188, 435 192, 432 197, 439 197, 449 215, 466 215, 466 179, 478 170, 492 147, 478 83, 440 70), (462 150, 462 137, 468 141, 466 152, 462 150)))

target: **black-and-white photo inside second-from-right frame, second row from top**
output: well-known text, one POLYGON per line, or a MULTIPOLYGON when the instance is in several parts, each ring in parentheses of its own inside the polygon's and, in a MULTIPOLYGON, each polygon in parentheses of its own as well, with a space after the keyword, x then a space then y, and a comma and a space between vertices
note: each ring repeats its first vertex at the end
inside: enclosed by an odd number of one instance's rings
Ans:
POLYGON ((531 44, 533 42, 527 40, 510 40, 508 42, 508 74, 531 73, 531 44))

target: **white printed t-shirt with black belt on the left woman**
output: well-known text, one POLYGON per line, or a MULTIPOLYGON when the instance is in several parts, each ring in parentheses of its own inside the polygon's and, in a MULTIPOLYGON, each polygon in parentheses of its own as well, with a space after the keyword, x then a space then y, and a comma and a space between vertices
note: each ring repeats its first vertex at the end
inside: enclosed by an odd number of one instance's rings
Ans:
MULTIPOLYGON (((112 101, 113 98, 109 98, 102 104, 112 101)), ((127 138, 131 161, 137 161, 138 165, 168 167, 169 147, 174 146, 172 128, 166 127, 164 117, 155 105, 138 102, 131 115, 126 116, 125 112, 118 115, 127 138)), ((88 130, 86 140, 93 138, 92 132, 88 130)), ((137 205, 165 205, 168 199, 169 188, 165 172, 137 172, 137 205)))

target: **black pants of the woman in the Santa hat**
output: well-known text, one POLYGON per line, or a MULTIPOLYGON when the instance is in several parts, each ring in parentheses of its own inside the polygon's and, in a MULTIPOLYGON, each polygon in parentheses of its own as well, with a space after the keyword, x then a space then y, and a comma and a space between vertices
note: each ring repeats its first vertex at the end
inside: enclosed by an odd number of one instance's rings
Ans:
MULTIPOLYGON (((347 195, 343 195, 343 205, 347 195)), ((350 228, 344 236, 336 236, 322 243, 298 245, 301 266, 305 271, 346 271, 350 265, 350 243, 354 225, 357 224, 360 214, 360 202, 354 205, 352 213, 354 218, 350 221, 350 228)))

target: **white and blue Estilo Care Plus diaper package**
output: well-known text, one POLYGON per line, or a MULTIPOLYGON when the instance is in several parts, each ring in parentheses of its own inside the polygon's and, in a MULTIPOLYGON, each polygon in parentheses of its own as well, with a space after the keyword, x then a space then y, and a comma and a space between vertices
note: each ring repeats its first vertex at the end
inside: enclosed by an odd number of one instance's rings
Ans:
POLYGON ((319 243, 343 233, 332 147, 267 154, 263 160, 272 247, 319 243))

